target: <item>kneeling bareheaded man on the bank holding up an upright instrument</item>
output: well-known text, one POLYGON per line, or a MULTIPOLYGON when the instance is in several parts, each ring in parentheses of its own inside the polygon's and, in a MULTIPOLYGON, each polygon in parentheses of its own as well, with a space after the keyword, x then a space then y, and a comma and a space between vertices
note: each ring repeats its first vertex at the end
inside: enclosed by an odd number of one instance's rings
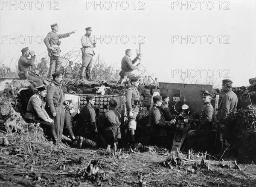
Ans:
POLYGON ((140 68, 140 64, 133 65, 135 62, 137 62, 138 59, 140 59, 140 55, 137 55, 135 59, 131 60, 132 51, 131 49, 125 50, 125 56, 122 58, 121 61, 121 71, 119 73, 120 75, 120 82, 122 82, 122 79, 126 76, 127 78, 133 77, 134 75, 131 73, 135 69, 140 68))

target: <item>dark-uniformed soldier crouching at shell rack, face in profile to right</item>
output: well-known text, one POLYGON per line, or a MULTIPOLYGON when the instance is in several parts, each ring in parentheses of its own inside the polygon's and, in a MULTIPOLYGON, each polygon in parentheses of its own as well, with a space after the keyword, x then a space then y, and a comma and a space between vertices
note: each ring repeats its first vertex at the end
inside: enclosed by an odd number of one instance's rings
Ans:
POLYGON ((96 147, 98 140, 98 129, 96 127, 96 113, 93 109, 94 96, 86 96, 87 104, 82 108, 79 117, 79 140, 78 147, 96 147))

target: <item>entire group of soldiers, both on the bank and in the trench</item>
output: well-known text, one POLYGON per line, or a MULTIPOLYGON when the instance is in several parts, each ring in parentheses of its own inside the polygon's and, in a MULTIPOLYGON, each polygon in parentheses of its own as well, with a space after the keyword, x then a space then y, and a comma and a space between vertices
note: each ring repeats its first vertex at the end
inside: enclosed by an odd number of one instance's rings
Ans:
MULTIPOLYGON (((50 57, 50 67, 48 78, 53 78, 52 81, 47 84, 44 78, 38 79, 33 77, 36 82, 44 82, 45 85, 37 87, 38 92, 29 99, 27 107, 27 113, 25 118, 28 122, 39 122, 42 127, 47 129, 49 136, 52 138, 54 144, 61 144, 61 140, 70 140, 75 145, 83 147, 84 144, 96 146, 98 142, 101 142, 105 146, 108 144, 118 144, 121 137, 120 125, 121 116, 115 110, 116 102, 111 100, 110 110, 104 114, 103 120, 100 124, 96 124, 96 114, 93 109, 95 104, 94 96, 87 96, 87 105, 82 108, 81 113, 75 117, 71 116, 73 111, 72 100, 64 100, 64 94, 61 87, 62 73, 60 71, 60 41, 59 39, 69 37, 70 34, 75 33, 72 31, 66 34, 57 34, 57 23, 51 25, 52 31, 47 34, 44 39, 44 43, 47 46, 48 55, 50 57), (44 99, 45 98, 45 99, 44 99), (46 101, 46 104, 44 102, 46 101), (74 136, 72 131, 72 122, 76 118, 79 122, 79 130, 74 136), (66 133, 65 133, 66 131, 66 133), (69 136, 67 138, 66 136, 69 136), (65 138, 66 137, 66 138, 65 138)), ((80 70, 80 79, 85 81, 90 78, 90 69, 92 67, 93 55, 95 55, 94 48, 96 42, 91 39, 91 27, 85 29, 86 34, 81 37, 82 44, 82 64, 81 68, 76 64, 75 69, 72 68, 73 62, 69 62, 69 65, 65 71, 65 77, 72 78, 73 71, 80 70)), ((19 77, 20 79, 27 79, 29 77, 29 66, 34 65, 35 52, 30 51, 29 48, 23 48, 21 50, 22 56, 19 59, 19 77), (31 58, 29 59, 29 55, 31 58)), ((125 93, 126 109, 127 109, 127 124, 128 134, 130 135, 131 148, 136 149, 138 147, 135 132, 137 129, 137 120, 140 111, 142 110, 140 102, 140 93, 138 91, 138 85, 140 80, 138 77, 134 77, 132 71, 140 68, 140 63, 134 65, 137 60, 140 60, 142 55, 137 53, 137 57, 131 60, 131 49, 125 50, 125 57, 121 61, 120 81, 123 79, 129 80, 129 88, 125 93)), ((234 114, 236 113, 237 96, 232 91, 232 81, 230 79, 224 79, 222 81, 222 91, 225 92, 220 107, 220 119, 219 129, 221 132, 221 138, 225 146, 229 146, 232 143, 231 132, 234 127, 234 114)), ((204 103, 198 129, 189 130, 187 134, 188 149, 193 148, 195 139, 202 136, 207 136, 209 131, 212 130, 212 115, 213 107, 211 105, 212 94, 205 92, 202 100, 204 103)), ((175 113, 171 113, 169 109, 169 95, 161 94, 160 96, 153 97, 154 105, 149 113, 149 124, 151 128, 151 135, 154 137, 154 143, 160 147, 167 147, 169 150, 172 148, 172 141, 169 139, 170 130, 173 129, 175 120, 175 113)))

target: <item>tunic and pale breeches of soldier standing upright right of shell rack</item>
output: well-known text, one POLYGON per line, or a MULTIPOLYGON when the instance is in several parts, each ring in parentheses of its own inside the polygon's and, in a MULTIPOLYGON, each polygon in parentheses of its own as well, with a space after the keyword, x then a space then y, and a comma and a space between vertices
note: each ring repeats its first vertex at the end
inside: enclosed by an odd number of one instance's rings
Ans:
POLYGON ((133 85, 125 92, 125 105, 128 115, 130 111, 133 113, 133 118, 128 119, 128 127, 136 130, 136 117, 140 113, 140 94, 133 85))

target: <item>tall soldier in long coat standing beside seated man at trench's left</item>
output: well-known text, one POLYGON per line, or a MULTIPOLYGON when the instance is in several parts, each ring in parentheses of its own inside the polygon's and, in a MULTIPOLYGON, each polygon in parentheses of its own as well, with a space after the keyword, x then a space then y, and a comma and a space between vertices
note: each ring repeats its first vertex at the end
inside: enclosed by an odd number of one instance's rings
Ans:
POLYGON ((46 96, 46 105, 48 113, 53 117, 58 140, 61 142, 65 118, 64 105, 69 105, 69 103, 64 99, 61 86, 61 72, 52 74, 52 77, 52 82, 47 86, 48 94, 46 96))

